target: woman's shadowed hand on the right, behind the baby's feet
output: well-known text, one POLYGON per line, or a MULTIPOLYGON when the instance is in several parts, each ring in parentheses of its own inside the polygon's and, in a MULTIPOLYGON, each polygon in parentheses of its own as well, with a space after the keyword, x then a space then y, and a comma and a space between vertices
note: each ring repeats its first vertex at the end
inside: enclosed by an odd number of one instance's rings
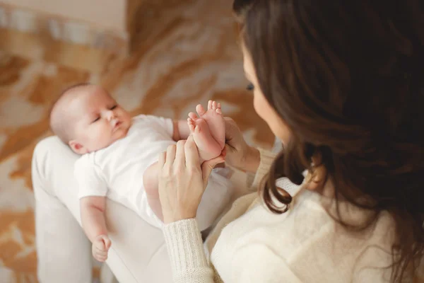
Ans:
POLYGON ((249 146, 237 124, 230 117, 225 120, 225 162, 242 171, 255 173, 259 167, 258 149, 249 146))

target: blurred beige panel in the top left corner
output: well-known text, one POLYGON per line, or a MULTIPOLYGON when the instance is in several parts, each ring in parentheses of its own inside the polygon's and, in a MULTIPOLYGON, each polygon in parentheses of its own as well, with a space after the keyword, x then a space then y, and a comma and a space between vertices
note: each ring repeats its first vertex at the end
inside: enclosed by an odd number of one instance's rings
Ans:
POLYGON ((78 0, 78 3, 75 0, 43 0, 42 2, 45 3, 23 1, 28 5, 15 3, 15 0, 2 0, 0 1, 0 28, 32 33, 43 40, 61 40, 126 54, 129 51, 129 33, 126 30, 125 0, 98 1, 107 7, 107 11, 104 11, 105 9, 100 11, 99 4, 93 0, 78 0), (115 6, 110 5, 109 2, 113 2, 115 6), (42 4, 51 3, 54 5, 36 8, 42 4), (111 13, 116 14, 111 16, 111 13), (110 18, 115 21, 107 21, 110 18))

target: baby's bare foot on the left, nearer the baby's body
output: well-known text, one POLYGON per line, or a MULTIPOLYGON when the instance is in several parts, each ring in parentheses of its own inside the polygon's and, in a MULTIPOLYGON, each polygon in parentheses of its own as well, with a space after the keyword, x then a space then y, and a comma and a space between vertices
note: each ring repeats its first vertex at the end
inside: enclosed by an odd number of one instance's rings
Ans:
POLYGON ((190 112, 187 123, 189 125, 190 132, 193 134, 197 149, 199 150, 201 163, 220 156, 222 149, 220 144, 213 139, 206 120, 199 118, 196 114, 190 112))

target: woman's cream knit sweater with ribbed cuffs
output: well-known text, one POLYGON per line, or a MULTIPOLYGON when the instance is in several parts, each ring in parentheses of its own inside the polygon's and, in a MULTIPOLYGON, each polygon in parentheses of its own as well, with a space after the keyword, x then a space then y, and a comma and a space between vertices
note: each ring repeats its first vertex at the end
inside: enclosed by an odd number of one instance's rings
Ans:
MULTIPOLYGON (((273 161, 261 151, 254 186, 273 161)), ((365 233, 345 231, 324 207, 331 200, 300 190, 285 214, 273 214, 257 192, 236 200, 205 243, 195 219, 165 225, 174 282, 389 282, 392 221, 388 214, 365 233)), ((341 204, 345 220, 366 214, 341 204)))

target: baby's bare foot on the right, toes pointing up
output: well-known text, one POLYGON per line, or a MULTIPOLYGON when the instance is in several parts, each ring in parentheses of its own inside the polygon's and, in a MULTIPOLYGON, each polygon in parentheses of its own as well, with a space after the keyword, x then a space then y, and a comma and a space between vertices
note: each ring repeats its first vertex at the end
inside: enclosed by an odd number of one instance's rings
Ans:
POLYGON ((216 101, 208 101, 208 110, 204 110, 201 104, 196 106, 196 112, 199 117, 206 120, 213 139, 215 139, 220 145, 220 149, 224 149, 225 146, 225 121, 223 113, 220 109, 220 103, 216 101))

